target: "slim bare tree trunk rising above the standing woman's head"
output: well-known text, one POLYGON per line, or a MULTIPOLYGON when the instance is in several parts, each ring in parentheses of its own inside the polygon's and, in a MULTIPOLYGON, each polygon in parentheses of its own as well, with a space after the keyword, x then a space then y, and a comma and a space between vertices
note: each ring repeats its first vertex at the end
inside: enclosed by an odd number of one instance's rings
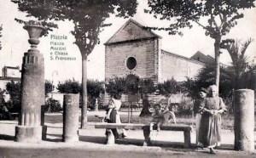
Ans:
POLYGON ((221 41, 221 37, 217 37, 215 38, 215 42, 214 42, 214 53, 215 53, 215 84, 219 89, 219 76, 220 76, 220 71, 219 71, 219 49, 220 49, 220 41, 221 41))

